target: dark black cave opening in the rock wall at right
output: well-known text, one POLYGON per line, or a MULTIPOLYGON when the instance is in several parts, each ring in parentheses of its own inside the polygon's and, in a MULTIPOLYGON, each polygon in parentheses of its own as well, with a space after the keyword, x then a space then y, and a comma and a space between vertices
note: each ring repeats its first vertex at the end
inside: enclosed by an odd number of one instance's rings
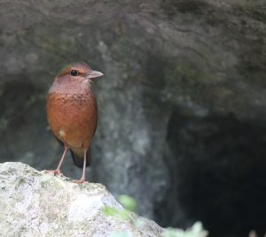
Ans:
MULTIPOLYGON (((232 114, 182 116, 168 124, 168 193, 156 206, 161 226, 200 220, 209 236, 266 232, 266 127, 232 114)), ((259 235, 260 236, 260 235, 259 235)))

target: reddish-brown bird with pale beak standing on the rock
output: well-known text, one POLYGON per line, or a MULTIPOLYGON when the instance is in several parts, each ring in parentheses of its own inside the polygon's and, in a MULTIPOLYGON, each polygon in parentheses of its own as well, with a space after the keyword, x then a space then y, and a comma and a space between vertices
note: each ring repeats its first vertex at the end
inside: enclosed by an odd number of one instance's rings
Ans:
POLYGON ((52 134, 64 146, 64 153, 54 175, 71 150, 74 164, 83 168, 81 180, 85 181, 85 168, 90 165, 90 142, 95 134, 98 120, 96 98, 91 89, 91 80, 103 76, 91 70, 89 65, 67 65, 55 78, 48 92, 46 112, 52 134))

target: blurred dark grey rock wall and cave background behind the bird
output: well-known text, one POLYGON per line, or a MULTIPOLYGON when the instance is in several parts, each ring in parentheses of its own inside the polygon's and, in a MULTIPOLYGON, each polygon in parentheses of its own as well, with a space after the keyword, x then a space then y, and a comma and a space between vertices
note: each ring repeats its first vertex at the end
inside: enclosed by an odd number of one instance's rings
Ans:
POLYGON ((1 162, 56 168, 46 93, 83 61, 105 73, 90 181, 160 226, 265 233, 265 36, 263 0, 0 0, 1 162))

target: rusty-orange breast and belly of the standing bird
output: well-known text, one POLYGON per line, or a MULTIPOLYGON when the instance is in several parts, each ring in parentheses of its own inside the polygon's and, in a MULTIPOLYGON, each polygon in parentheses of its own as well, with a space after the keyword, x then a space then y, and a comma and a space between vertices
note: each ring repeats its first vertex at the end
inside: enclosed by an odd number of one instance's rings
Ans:
POLYGON ((62 95, 47 98, 51 131, 70 148, 89 148, 97 126, 97 104, 93 95, 62 95))

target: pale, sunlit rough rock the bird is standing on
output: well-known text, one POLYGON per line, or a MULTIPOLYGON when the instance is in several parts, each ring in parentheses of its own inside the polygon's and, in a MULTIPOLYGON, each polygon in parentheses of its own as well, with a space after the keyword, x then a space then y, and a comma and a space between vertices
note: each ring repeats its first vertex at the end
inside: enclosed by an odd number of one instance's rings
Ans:
POLYGON ((124 209, 101 184, 77 185, 27 164, 0 164, 0 190, 4 236, 159 236, 163 231, 148 219, 134 226, 133 214, 127 219, 107 216, 105 207, 124 209))

